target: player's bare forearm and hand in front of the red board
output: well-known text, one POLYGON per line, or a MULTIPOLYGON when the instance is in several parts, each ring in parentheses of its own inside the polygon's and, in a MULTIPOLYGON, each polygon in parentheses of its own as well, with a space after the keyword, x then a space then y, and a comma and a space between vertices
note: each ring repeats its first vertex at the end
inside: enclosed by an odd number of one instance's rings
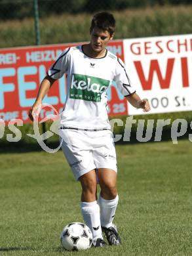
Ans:
POLYGON ((31 119, 31 121, 33 121, 33 116, 35 116, 35 112, 38 116, 38 111, 39 111, 38 107, 41 106, 43 98, 45 97, 45 95, 47 95, 54 81, 55 81, 54 79, 52 79, 47 75, 41 82, 35 103, 29 110, 29 118, 31 119))

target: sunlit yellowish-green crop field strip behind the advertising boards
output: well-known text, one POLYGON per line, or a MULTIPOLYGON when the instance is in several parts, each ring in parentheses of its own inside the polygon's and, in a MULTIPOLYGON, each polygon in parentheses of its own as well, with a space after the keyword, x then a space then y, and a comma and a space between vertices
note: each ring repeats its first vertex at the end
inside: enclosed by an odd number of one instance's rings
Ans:
MULTIPOLYGON (((192 5, 113 12, 115 39, 191 33, 192 5)), ((60 14, 40 20, 41 44, 88 41, 90 14, 60 14)), ((35 45, 33 18, 0 23, 0 47, 35 45)))

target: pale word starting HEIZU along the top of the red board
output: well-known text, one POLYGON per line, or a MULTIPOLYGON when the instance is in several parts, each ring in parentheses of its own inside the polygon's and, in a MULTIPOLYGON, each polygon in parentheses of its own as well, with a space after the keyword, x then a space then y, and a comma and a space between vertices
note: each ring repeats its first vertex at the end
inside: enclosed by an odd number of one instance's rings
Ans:
POLYGON ((56 60, 61 50, 33 51, 26 53, 26 62, 49 62, 56 60))

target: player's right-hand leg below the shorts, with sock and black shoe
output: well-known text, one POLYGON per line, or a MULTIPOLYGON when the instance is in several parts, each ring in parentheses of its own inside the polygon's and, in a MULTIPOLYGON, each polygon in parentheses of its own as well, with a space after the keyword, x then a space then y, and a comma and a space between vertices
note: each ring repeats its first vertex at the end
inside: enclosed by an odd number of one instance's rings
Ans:
POLYGON ((98 169, 98 178, 101 187, 99 202, 102 230, 105 232, 110 245, 118 245, 121 243, 121 238, 115 224, 113 224, 119 200, 116 186, 117 173, 112 169, 100 168, 98 169))

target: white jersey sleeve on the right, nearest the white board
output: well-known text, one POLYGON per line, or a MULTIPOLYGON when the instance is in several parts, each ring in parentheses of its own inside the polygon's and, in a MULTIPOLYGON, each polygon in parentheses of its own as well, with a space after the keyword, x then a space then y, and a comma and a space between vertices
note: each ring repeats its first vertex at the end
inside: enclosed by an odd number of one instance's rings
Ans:
POLYGON ((125 64, 119 58, 117 58, 117 66, 113 79, 117 83, 119 91, 121 91, 124 96, 129 96, 136 93, 136 90, 130 83, 128 74, 126 73, 125 64))

